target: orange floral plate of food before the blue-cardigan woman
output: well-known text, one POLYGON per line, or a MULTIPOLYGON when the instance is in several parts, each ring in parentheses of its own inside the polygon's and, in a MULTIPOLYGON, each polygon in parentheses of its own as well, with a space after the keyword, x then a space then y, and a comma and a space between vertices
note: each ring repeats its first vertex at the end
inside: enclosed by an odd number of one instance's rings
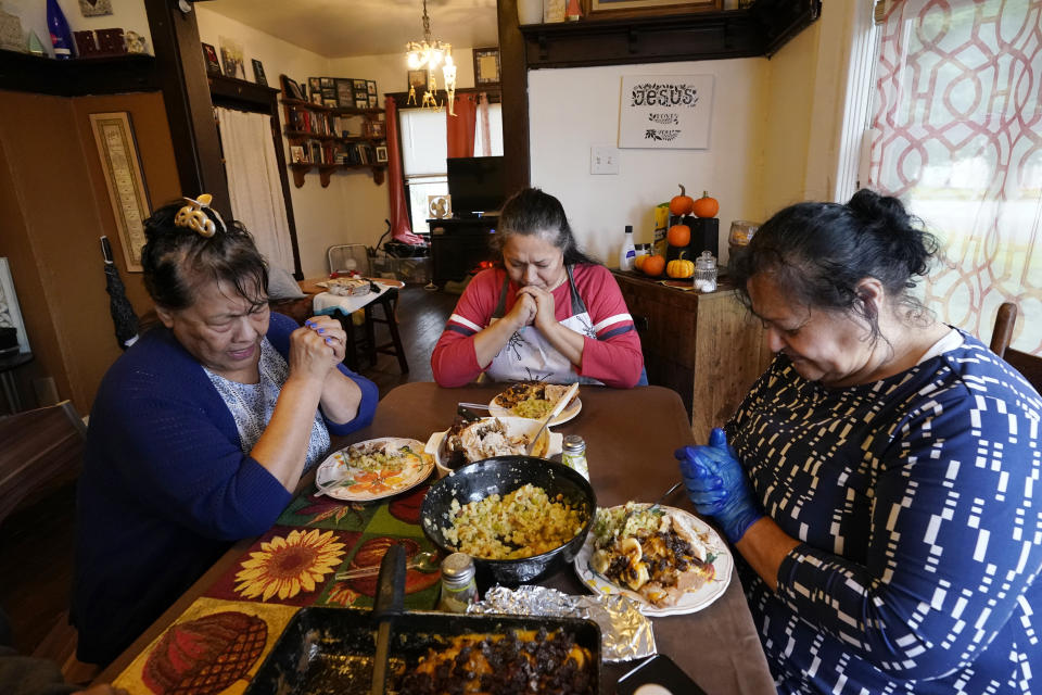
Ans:
POLYGON ((420 484, 434 468, 423 442, 381 437, 358 442, 331 454, 318 466, 319 494, 345 502, 390 497, 420 484))

